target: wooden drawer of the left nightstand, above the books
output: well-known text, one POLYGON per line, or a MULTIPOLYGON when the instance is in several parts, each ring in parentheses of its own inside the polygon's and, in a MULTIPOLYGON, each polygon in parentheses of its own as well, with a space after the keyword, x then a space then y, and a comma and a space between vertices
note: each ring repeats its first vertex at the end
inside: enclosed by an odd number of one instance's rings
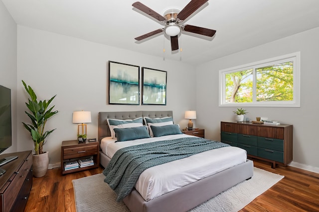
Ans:
POLYGON ((64 148, 63 159, 84 157, 84 156, 89 156, 89 155, 93 155, 97 153, 98 153, 98 149, 96 144, 64 148))

